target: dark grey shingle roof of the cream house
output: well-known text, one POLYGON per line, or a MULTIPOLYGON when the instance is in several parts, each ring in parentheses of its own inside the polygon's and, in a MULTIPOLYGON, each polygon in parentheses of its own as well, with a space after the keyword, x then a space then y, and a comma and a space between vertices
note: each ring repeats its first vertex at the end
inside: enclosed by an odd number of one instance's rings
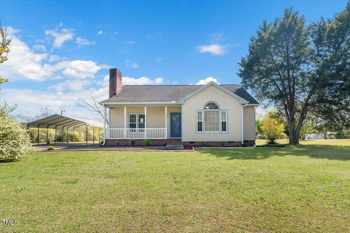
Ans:
MULTIPOLYGON (((121 90, 110 99, 101 103, 115 102, 172 102, 181 100, 204 85, 159 85, 159 86, 123 86, 121 90)), ((258 104, 240 85, 220 85, 239 97, 249 101, 250 104, 258 104)))

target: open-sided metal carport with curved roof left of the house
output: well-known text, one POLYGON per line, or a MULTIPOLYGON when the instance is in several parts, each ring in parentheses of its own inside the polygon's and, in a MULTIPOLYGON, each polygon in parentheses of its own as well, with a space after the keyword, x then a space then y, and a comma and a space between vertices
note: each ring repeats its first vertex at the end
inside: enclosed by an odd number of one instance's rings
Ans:
MULTIPOLYGON (((36 121, 32 121, 27 123, 27 128, 38 128, 38 144, 39 144, 39 128, 47 129, 47 144, 49 143, 49 129, 55 129, 55 141, 57 143, 57 129, 62 129, 62 143, 63 143, 63 133, 64 129, 67 129, 67 142, 68 142, 68 130, 73 130, 73 142, 74 142, 74 128, 78 126, 86 126, 86 145, 87 145, 87 126, 98 127, 99 131, 100 128, 103 128, 104 125, 101 122, 84 119, 84 118, 78 118, 78 117, 71 117, 71 116, 63 116, 54 114, 52 116, 44 117, 41 119, 38 119, 36 121)), ((94 143, 94 132, 93 131, 93 143, 94 143)), ((100 141, 100 140, 99 140, 100 141)))

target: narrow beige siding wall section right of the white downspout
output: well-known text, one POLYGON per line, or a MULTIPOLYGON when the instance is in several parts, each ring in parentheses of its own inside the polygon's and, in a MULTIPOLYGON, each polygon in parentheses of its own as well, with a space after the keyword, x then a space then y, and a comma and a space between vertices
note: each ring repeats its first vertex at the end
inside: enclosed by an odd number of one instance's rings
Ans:
POLYGON ((255 108, 243 107, 243 140, 255 140, 255 108))

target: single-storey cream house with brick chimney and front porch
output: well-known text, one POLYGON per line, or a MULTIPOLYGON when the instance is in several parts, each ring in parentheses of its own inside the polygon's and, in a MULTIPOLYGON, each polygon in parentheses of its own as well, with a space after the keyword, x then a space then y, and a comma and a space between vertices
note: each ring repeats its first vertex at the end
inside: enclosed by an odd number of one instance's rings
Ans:
POLYGON ((122 86, 110 69, 109 128, 104 145, 183 144, 241 146, 255 144, 255 108, 259 103, 240 85, 122 86))

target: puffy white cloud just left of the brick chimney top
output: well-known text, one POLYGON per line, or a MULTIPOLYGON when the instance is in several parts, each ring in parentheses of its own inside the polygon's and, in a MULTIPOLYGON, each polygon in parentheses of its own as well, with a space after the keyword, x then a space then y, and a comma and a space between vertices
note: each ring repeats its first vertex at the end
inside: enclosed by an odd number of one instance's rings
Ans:
POLYGON ((95 74, 100 69, 93 61, 75 60, 71 61, 69 67, 62 71, 62 74, 72 79, 95 78, 95 74))

